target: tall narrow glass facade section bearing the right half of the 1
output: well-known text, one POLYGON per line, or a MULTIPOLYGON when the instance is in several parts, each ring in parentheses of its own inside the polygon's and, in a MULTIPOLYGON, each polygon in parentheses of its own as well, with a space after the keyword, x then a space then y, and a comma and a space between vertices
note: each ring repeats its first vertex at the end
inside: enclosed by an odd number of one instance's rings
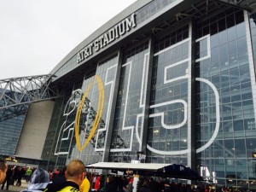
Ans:
POLYGON ((125 49, 120 69, 109 161, 131 162, 142 148, 148 41, 125 49))

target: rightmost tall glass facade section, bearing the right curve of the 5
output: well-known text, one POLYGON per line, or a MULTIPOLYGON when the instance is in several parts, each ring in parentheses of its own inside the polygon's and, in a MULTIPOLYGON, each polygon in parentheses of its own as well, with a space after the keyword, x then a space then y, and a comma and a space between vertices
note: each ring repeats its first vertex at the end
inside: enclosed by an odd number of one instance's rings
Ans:
POLYGON ((250 168, 255 87, 245 19, 243 11, 230 9, 196 23, 195 31, 197 164, 204 177, 227 185, 247 185, 256 173, 250 168))

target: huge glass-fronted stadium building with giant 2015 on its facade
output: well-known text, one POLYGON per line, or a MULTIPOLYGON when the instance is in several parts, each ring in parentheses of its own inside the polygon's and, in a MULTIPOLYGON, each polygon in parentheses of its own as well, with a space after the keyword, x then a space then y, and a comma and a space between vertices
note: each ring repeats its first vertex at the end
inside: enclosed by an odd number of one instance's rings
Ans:
POLYGON ((49 169, 143 154, 254 189, 255 12, 254 0, 131 4, 48 75, 1 80, 0 154, 49 169))

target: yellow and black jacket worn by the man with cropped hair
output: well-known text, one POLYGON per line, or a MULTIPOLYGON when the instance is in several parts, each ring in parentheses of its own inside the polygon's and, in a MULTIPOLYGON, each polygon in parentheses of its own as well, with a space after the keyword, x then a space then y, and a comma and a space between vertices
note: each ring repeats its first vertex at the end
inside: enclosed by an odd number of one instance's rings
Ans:
POLYGON ((79 185, 70 181, 64 183, 49 183, 44 192, 80 192, 79 185))

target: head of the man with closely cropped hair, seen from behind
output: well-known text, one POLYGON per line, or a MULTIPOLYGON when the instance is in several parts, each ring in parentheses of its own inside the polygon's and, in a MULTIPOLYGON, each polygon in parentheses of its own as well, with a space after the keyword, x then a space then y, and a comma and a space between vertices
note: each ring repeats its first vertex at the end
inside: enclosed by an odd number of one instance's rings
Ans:
POLYGON ((81 160, 72 160, 67 165, 66 177, 67 181, 73 181, 80 185, 85 176, 84 163, 81 160))

